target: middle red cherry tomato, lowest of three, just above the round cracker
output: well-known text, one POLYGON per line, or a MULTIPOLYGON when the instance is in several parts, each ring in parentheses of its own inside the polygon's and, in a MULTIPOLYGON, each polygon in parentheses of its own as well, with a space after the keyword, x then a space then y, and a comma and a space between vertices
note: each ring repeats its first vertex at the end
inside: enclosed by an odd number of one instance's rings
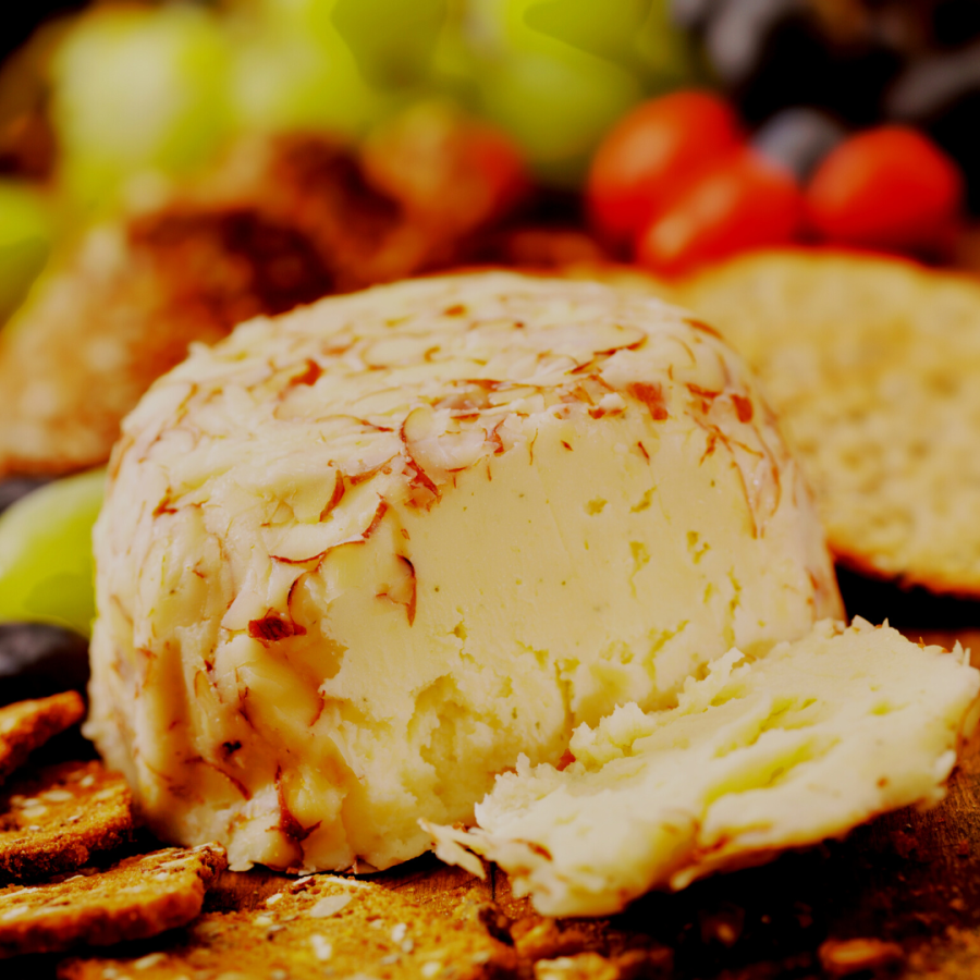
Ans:
POLYGON ((749 147, 687 184, 640 234, 637 260, 675 274, 746 248, 792 242, 803 224, 793 174, 749 147))

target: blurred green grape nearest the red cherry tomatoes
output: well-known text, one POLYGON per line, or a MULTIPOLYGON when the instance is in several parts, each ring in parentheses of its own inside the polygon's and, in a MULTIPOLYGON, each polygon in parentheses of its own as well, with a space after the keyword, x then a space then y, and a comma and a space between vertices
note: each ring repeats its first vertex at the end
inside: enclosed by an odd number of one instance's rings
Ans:
POLYGON ((561 56, 525 53, 487 65, 480 108, 517 140, 539 177, 574 187, 603 134, 644 93, 611 62, 562 47, 561 56))

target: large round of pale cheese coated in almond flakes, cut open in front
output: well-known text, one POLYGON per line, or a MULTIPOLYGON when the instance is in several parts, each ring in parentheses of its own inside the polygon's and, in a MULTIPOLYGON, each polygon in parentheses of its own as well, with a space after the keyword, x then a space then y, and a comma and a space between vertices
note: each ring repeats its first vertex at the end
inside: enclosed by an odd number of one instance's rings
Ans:
POLYGON ((592 283, 419 280, 159 380, 95 532, 87 732, 163 838, 377 868, 524 752, 841 614, 738 358, 592 283))

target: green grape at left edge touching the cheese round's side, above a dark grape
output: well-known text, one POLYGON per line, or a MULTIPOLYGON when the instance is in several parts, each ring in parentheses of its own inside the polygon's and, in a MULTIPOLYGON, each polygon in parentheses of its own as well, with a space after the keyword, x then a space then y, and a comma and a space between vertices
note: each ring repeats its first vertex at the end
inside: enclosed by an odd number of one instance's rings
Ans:
POLYGON ((87 635, 95 615, 91 527, 102 469, 47 483, 0 514, 0 621, 87 635))

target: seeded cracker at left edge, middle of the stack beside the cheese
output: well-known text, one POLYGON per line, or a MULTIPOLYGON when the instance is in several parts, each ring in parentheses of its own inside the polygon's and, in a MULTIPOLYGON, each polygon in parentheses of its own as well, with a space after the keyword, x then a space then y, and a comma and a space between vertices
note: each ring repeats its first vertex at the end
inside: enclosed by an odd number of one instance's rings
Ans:
POLYGON ((134 828, 125 780, 101 762, 62 762, 0 794, 0 874, 38 879, 79 868, 134 828))

